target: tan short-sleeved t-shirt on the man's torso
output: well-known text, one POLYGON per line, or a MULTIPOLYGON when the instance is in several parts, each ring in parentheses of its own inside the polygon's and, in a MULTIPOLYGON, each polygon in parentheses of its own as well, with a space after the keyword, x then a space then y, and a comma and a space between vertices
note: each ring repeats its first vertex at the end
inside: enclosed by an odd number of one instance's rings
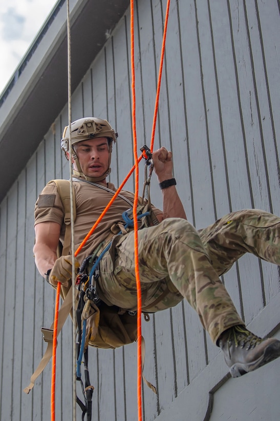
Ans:
MULTIPOLYGON (((102 186, 102 183, 99 183, 102 186)), ((90 184, 85 181, 74 181, 73 186, 75 190, 76 201, 76 219, 74 223, 74 250, 83 241, 84 237, 89 233, 95 221, 99 218, 103 209, 110 202, 113 193, 108 192, 98 186, 90 184)), ((114 184, 107 183, 107 187, 116 192, 114 184)), ((121 196, 128 199, 132 204, 134 201, 134 194, 122 190, 121 196)), ((87 243, 82 247, 77 258, 80 262, 88 257, 95 248, 105 240, 110 234, 110 228, 114 223, 122 221, 122 213, 131 208, 130 203, 127 203, 121 197, 117 197, 106 212, 102 220, 99 222, 95 231, 88 239, 87 243)), ((162 213, 161 210, 153 206, 156 215, 162 213)), ((35 225, 40 222, 57 222, 61 226, 60 241, 63 244, 65 225, 63 223, 64 213, 60 196, 57 192, 57 187, 54 182, 46 185, 42 190, 35 204, 35 225)))

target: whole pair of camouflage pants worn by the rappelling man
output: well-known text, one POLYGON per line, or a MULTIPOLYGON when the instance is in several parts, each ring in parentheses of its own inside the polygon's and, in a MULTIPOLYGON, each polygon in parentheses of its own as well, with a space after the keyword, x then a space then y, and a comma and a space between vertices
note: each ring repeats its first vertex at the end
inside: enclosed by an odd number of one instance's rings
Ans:
MULTIPOLYGON (((233 212, 207 228, 179 218, 138 232, 142 308, 159 311, 185 298, 214 343, 244 324, 219 276, 245 253, 280 264, 280 218, 257 209, 233 212)), ((107 303, 137 308, 134 233, 116 237, 100 262, 98 290, 107 303)))

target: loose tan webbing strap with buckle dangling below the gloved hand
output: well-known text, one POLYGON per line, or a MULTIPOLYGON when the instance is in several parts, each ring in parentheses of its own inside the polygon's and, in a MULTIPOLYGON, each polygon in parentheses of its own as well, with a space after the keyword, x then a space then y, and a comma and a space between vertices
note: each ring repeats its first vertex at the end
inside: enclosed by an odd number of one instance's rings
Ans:
MULTIPOLYGON (((67 319, 69 313, 71 312, 71 310, 73 308, 72 288, 73 287, 71 286, 71 288, 69 289, 69 292, 68 292, 65 300, 63 301, 63 303, 62 303, 62 305, 59 309, 59 312, 58 312, 57 336, 59 335, 63 324, 66 322, 66 319, 67 319)), ((76 299, 76 297, 78 295, 78 290, 75 290, 74 294, 75 294, 75 299, 76 299)), ((42 328, 41 332, 44 335, 44 340, 46 342, 48 342, 48 346, 47 346, 46 352, 45 352, 44 356, 42 357, 38 367, 36 368, 36 370, 34 371, 34 373, 32 374, 32 376, 30 378, 30 385, 24 389, 24 392, 26 394, 28 394, 30 392, 30 390, 33 388, 36 378, 45 369, 45 367, 47 366, 48 362, 50 361, 50 359, 52 357, 52 353, 53 353, 53 323, 52 323, 52 326, 50 327, 50 329, 42 328)))

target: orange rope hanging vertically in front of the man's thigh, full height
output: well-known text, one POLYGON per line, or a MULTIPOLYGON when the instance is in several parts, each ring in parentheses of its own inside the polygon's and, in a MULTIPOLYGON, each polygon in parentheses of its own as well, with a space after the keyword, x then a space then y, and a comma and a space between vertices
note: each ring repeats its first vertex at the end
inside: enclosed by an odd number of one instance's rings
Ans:
POLYGON ((133 128, 133 146, 135 160, 135 193, 133 203, 133 221, 134 221, 134 258, 135 258, 135 279, 137 289, 137 400, 138 400, 138 421, 142 421, 142 356, 141 356, 141 282, 139 276, 139 258, 138 258, 138 183, 139 167, 137 160, 137 137, 136 137, 136 112, 135 112, 135 66, 134 66, 134 5, 131 0, 131 88, 132 88, 132 128, 133 128))

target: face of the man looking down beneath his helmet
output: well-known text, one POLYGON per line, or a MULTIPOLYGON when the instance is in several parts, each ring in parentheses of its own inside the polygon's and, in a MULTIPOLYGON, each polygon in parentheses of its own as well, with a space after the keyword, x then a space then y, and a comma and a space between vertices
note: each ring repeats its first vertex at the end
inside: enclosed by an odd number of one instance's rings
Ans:
MULTIPOLYGON (((82 140, 74 146, 82 172, 87 177, 101 177, 109 166, 107 138, 82 140)), ((77 170, 74 162, 74 169, 77 170)))

